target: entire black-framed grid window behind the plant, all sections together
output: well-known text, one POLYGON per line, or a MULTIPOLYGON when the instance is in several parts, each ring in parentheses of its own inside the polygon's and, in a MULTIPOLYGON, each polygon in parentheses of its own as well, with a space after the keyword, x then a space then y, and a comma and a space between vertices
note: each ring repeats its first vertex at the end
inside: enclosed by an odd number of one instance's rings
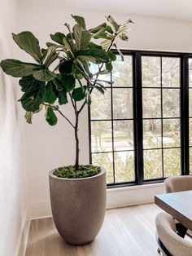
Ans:
POLYGON ((105 95, 95 90, 89 108, 90 162, 106 168, 109 186, 189 174, 189 158, 192 174, 192 58, 117 56, 111 74, 102 76, 109 82, 105 95))

